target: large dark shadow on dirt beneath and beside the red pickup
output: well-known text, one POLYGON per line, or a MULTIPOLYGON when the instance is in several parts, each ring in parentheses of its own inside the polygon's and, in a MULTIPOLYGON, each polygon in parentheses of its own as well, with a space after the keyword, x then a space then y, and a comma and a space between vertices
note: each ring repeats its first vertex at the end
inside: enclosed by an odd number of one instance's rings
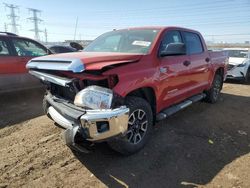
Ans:
POLYGON ((104 143, 75 156, 108 187, 195 187, 250 152, 249 122, 249 97, 223 94, 217 104, 196 103, 157 123, 135 155, 123 157, 104 143))

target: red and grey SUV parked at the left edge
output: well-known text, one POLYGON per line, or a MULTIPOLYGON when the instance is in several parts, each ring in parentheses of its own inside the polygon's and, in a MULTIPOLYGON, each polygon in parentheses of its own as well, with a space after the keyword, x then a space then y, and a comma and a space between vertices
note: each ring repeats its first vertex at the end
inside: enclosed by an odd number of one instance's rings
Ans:
POLYGON ((0 32, 0 93, 41 87, 40 82, 28 74, 25 66, 32 58, 50 53, 45 46, 32 39, 0 32))

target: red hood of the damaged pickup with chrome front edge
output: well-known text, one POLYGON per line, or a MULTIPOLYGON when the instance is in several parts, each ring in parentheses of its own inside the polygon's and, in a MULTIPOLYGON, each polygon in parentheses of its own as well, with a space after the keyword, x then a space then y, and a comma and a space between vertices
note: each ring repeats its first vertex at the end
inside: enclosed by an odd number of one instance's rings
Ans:
POLYGON ((72 71, 100 70, 104 67, 139 61, 143 54, 116 52, 75 52, 53 54, 30 60, 26 68, 72 71))

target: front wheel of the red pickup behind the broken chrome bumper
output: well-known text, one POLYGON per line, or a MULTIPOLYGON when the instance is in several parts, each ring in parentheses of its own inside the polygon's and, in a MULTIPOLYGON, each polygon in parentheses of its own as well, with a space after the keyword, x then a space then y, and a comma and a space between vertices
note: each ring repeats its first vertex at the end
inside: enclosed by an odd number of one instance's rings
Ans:
POLYGON ((123 155, 136 153, 149 139, 153 125, 153 113, 147 101, 139 97, 127 97, 129 107, 128 131, 108 142, 109 146, 123 155))

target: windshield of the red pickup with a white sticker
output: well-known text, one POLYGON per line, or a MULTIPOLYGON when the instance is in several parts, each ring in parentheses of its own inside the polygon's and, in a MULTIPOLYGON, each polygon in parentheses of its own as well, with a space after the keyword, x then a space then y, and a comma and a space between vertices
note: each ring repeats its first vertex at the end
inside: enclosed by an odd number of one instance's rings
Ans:
POLYGON ((147 54, 158 32, 157 29, 111 31, 99 36, 84 51, 147 54))

